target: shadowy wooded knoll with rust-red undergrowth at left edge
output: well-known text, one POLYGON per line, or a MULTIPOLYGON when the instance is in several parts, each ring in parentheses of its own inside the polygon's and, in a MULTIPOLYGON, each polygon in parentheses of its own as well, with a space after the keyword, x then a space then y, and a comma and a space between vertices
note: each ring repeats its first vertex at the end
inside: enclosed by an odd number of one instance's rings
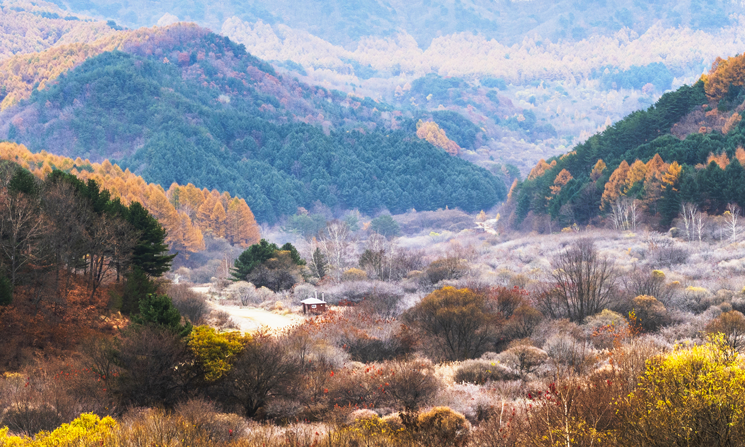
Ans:
POLYGON ((0 363, 110 332, 101 312, 136 311, 174 256, 141 203, 124 205, 92 179, 59 170, 41 179, 0 160, 0 363))

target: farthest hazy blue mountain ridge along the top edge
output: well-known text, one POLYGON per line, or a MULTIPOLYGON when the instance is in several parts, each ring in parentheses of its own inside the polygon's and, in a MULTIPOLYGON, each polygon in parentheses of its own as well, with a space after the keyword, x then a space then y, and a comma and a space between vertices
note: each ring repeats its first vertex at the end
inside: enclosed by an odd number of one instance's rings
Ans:
POLYGON ((695 29, 729 25, 729 14, 743 7, 732 1, 606 1, 606 0, 254 0, 177 2, 134 0, 57 0, 70 10, 102 19, 115 19, 130 27, 155 25, 169 13, 218 30, 237 16, 308 31, 337 45, 356 46, 362 37, 384 37, 406 31, 426 48, 432 39, 447 34, 480 34, 506 44, 535 33, 548 39, 579 40, 592 34, 612 34, 627 27, 643 34, 658 21, 668 28, 695 29))

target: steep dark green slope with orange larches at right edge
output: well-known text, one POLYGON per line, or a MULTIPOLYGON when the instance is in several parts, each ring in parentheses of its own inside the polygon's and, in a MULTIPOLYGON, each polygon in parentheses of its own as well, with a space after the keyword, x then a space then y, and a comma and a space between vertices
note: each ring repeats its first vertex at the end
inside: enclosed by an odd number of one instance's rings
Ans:
POLYGON ((693 86, 541 160, 510 192, 512 225, 535 225, 524 222, 529 215, 562 226, 603 215, 625 228, 647 221, 667 229, 682 205, 694 215, 745 206, 744 60, 717 60, 693 86))

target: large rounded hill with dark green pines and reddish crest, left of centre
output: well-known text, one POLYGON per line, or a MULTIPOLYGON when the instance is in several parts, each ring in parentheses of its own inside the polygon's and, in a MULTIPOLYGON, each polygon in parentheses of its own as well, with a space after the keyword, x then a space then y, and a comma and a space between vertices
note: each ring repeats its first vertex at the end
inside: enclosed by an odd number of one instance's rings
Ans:
POLYGON ((33 151, 117 159, 161 185, 232 191, 259 221, 316 200, 366 213, 471 212, 506 194, 484 169, 386 130, 396 116, 384 104, 276 77, 193 25, 140 34, 127 52, 89 58, 4 112, 7 138, 33 151))

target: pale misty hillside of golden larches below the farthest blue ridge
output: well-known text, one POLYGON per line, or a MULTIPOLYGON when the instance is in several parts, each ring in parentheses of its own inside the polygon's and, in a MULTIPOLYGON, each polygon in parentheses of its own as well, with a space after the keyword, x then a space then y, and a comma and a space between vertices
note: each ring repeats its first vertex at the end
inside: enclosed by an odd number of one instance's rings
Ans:
MULTIPOLYGON (((533 13, 535 4, 494 7, 506 15, 521 8, 533 13)), ((574 2, 565 5, 562 15, 574 15, 576 21, 562 37, 551 28, 557 24, 549 23, 548 28, 499 39, 466 28, 443 33, 426 45, 415 37, 421 31, 417 28, 346 46, 302 29, 238 17, 226 19, 221 32, 273 61, 279 72, 305 82, 381 98, 402 109, 460 113, 483 132, 477 147, 463 156, 494 171, 514 165, 526 175, 538 159, 562 153, 649 107, 669 89, 695 83, 717 56, 741 51, 741 16, 705 26, 706 21, 693 16, 714 13, 716 4, 703 9, 691 5, 648 5, 642 12, 641 4, 597 3, 589 8, 593 13, 616 19, 609 28, 593 28, 589 23, 600 21, 580 19, 589 9, 573 10, 580 7, 574 2), (673 13, 681 13, 675 25, 662 19, 673 13), (618 22, 620 16, 623 22, 618 22), (650 17, 661 19, 650 26, 650 17)), ((726 7, 741 8, 732 3, 726 7)))

